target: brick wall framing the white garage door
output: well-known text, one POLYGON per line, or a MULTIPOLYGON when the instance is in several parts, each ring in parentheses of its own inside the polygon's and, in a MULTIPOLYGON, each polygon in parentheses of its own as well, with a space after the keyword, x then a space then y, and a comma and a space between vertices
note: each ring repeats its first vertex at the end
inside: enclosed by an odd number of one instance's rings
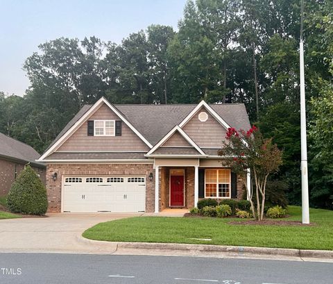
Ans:
POLYGON ((62 176, 140 175, 146 176, 146 212, 154 212, 155 179, 149 181, 152 164, 48 164, 46 166, 46 190, 49 200, 48 212, 61 212, 62 176), (53 181, 52 174, 58 174, 53 181))

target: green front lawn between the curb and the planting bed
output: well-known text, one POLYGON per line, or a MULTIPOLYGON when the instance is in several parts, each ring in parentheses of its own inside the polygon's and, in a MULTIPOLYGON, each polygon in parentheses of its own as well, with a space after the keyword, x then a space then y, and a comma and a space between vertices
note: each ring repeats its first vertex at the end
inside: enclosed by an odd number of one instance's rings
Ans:
MULTIPOLYGON (((301 220, 301 208, 289 206, 289 220, 301 220)), ((83 237, 112 242, 174 242, 249 247, 333 250, 333 211, 310 210, 315 226, 232 225, 240 219, 133 217, 97 224, 83 237), (211 241, 193 240, 212 239, 211 241)))

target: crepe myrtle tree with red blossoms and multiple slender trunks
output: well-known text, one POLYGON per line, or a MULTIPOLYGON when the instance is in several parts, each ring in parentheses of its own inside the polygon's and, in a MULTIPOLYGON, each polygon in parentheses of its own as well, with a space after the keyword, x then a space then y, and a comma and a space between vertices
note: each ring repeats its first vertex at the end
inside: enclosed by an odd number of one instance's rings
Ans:
POLYGON ((253 216, 261 221, 264 217, 267 178, 270 174, 278 172, 282 164, 282 151, 273 144, 272 138, 264 139, 255 126, 248 131, 228 128, 225 138, 219 155, 223 156, 223 163, 244 181, 253 216), (257 210, 253 202, 253 190, 250 191, 246 183, 248 171, 255 181, 257 210))

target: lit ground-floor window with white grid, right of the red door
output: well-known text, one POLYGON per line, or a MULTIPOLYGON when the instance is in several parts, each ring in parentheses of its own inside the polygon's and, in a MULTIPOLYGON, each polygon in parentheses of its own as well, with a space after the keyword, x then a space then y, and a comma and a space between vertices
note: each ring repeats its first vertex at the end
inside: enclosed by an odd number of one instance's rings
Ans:
POLYGON ((230 198, 230 169, 205 170, 205 198, 230 198))

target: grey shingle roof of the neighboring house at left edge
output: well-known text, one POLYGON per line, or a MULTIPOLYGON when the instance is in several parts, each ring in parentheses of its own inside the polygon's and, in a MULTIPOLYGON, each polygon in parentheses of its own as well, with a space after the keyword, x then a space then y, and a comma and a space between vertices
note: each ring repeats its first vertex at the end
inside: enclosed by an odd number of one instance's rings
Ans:
POLYGON ((26 164, 31 162, 32 165, 37 167, 44 167, 40 162, 35 162, 40 157, 40 154, 28 144, 0 133, 0 145, 0 156, 3 158, 19 160, 26 164))

